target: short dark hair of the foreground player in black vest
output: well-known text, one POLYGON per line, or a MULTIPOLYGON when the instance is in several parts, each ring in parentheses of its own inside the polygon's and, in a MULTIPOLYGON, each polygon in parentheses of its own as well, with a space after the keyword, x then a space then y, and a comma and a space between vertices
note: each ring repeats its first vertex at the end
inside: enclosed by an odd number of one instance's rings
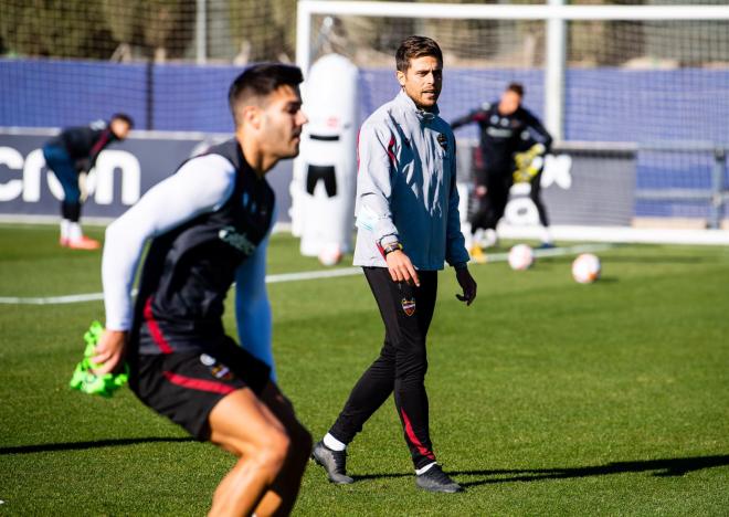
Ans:
POLYGON ((235 119, 236 106, 254 97, 263 98, 281 86, 296 87, 304 81, 304 74, 298 66, 283 63, 261 63, 247 67, 235 77, 228 92, 228 103, 235 119))

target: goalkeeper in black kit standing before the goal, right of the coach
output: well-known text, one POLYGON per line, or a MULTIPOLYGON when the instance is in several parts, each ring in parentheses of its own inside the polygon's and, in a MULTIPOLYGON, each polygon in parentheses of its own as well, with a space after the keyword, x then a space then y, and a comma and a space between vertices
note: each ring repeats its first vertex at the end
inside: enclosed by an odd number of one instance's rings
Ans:
MULTIPOLYGON (((528 109, 521 106, 524 86, 510 83, 498 102, 484 104, 480 108, 451 123, 453 129, 466 124, 478 124, 480 138, 476 154, 476 198, 478 207, 471 218, 471 232, 474 245, 473 256, 483 255, 482 247, 495 245, 497 242, 496 224, 504 215, 509 198, 509 189, 514 184, 514 172, 517 152, 525 149, 525 143, 533 140, 529 146, 540 144, 543 154, 549 152, 552 137, 541 122, 528 109)), ((539 148, 533 148, 537 151, 539 148)), ((549 221, 541 201, 537 184, 541 176, 532 177, 531 199, 537 205, 541 222, 541 240, 543 246, 551 246, 549 221)))

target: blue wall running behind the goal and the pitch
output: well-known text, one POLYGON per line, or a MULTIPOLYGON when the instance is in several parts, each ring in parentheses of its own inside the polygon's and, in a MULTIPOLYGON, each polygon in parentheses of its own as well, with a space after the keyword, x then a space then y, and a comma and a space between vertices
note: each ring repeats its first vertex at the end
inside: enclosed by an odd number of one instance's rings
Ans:
MULTIPOLYGON (((126 112, 139 129, 229 133, 226 94, 236 66, 117 64, 0 60, 0 126, 85 125, 126 112)), ((398 92, 394 72, 361 71, 360 113, 398 92)), ((543 116, 541 70, 446 68, 441 96, 445 119, 498 97, 505 84, 525 84, 525 104, 543 116)), ((632 71, 572 68, 566 77, 566 139, 729 145, 729 70, 632 71)), ((476 128, 458 131, 475 137, 476 128)), ((708 188, 708 154, 642 152, 641 188, 708 188)), ((729 178, 725 181, 729 182, 729 178)), ((637 215, 706 217, 706 203, 637 202, 637 215)))

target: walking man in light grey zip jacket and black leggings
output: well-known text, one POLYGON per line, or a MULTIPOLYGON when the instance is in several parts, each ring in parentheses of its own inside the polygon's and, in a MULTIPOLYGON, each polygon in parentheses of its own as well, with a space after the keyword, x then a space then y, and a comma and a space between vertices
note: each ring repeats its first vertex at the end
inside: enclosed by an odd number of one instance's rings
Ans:
POLYGON ((410 36, 398 49, 402 91, 362 125, 357 179, 355 265, 364 276, 384 321, 384 346, 362 374, 329 432, 313 453, 329 481, 352 483, 346 446, 394 393, 416 486, 459 492, 435 462, 429 431, 425 340, 435 308, 437 271, 454 267, 463 288, 476 297, 458 218, 455 138, 439 116, 443 55, 429 38, 410 36))

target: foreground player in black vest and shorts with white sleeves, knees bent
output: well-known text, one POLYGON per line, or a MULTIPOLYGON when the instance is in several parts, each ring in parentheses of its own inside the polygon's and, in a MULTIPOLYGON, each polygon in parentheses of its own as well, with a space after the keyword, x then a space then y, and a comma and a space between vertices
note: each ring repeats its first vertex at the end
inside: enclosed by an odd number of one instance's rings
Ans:
MULTIPOLYGON (((271 380, 270 362, 225 336, 223 302, 236 283, 241 344, 271 349, 265 292, 274 193, 264 175, 298 154, 299 68, 255 65, 230 89, 235 138, 183 163, 106 231, 102 275, 106 330, 99 373, 125 351, 137 397, 236 456, 211 515, 286 515, 294 506, 311 439, 271 380), (129 292, 145 242, 136 308, 129 292)), ((264 354, 261 354, 263 351, 264 354)))

